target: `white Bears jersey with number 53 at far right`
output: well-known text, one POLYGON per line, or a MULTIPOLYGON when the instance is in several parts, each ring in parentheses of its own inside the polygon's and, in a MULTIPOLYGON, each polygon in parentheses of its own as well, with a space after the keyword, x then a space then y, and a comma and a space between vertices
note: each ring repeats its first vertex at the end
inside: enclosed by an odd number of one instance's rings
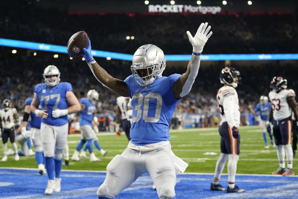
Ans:
POLYGON ((273 92, 269 95, 274 120, 279 121, 291 116, 292 109, 287 102, 287 98, 295 96, 293 89, 283 89, 279 93, 273 92))

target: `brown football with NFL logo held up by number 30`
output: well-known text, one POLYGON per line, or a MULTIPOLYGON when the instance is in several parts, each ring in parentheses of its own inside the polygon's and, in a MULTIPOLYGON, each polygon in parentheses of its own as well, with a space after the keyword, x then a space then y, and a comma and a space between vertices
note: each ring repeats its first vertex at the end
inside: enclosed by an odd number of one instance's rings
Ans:
POLYGON ((72 35, 67 43, 67 53, 72 58, 77 58, 83 54, 83 48, 89 44, 88 35, 85 31, 79 31, 72 35))

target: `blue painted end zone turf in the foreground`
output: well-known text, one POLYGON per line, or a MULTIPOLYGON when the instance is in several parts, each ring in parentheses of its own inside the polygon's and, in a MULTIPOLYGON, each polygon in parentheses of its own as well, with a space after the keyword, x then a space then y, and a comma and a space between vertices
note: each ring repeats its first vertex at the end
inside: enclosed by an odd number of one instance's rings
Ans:
MULTIPOLYGON (((62 171, 61 192, 46 196, 47 175, 39 175, 37 170, 0 169, 0 198, 80 198, 96 199, 97 189, 106 177, 105 172, 62 171)), ((258 198, 287 199, 297 198, 298 177, 237 175, 236 185, 245 189, 244 193, 210 191, 213 174, 180 174, 175 187, 176 198, 182 199, 220 199, 220 198, 258 198)), ((228 185, 228 176, 223 175, 220 184, 228 185)), ((136 182, 121 192, 117 199, 158 199, 152 190, 152 181, 148 174, 139 177, 136 182)))

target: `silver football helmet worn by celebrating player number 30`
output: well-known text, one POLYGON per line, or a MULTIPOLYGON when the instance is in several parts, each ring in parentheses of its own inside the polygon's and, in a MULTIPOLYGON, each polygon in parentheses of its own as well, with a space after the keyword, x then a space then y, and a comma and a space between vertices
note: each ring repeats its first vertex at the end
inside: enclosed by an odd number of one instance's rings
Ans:
POLYGON ((142 45, 133 54, 133 64, 130 69, 133 73, 133 78, 139 85, 150 85, 165 70, 164 52, 152 44, 142 45), (139 71, 140 69, 147 69, 146 75, 142 75, 139 71))

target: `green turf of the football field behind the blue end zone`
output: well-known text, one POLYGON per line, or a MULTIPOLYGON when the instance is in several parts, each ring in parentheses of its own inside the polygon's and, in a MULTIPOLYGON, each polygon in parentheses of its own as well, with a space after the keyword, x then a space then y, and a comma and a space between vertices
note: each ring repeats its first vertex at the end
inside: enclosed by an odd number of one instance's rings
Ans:
MULTIPOLYGON (((260 127, 239 127, 239 132, 241 135, 241 152, 237 164, 237 174, 272 174, 273 171, 276 171, 279 167, 276 149, 271 145, 269 149, 264 148, 265 144, 260 127)), ((220 154, 218 128, 171 130, 170 137, 175 155, 189 164, 185 172, 214 173, 215 164, 220 154)), ((269 140, 269 135, 267 137, 269 140)), ((80 140, 80 135, 69 135, 70 166, 65 167, 63 165, 62 169, 105 171, 106 165, 111 159, 115 155, 121 154, 128 144, 125 134, 117 137, 115 133, 101 133, 98 138, 101 147, 109 150, 107 155, 102 157, 94 146, 95 155, 102 159, 102 162, 89 162, 89 158, 82 159, 81 162, 74 162, 71 161, 71 155, 80 140)), ((2 149, 2 141, 0 147, 2 149)), ((12 149, 9 141, 8 148, 12 149)), ((0 150, 0 158, 2 157, 3 152, 0 150)), ((14 161, 13 158, 14 156, 9 156, 7 162, 0 161, 0 167, 37 168, 34 156, 20 156, 19 161, 14 161)), ((294 157, 293 169, 296 172, 298 172, 297 160, 298 158, 294 157)), ((227 173, 226 167, 224 173, 227 173)))

